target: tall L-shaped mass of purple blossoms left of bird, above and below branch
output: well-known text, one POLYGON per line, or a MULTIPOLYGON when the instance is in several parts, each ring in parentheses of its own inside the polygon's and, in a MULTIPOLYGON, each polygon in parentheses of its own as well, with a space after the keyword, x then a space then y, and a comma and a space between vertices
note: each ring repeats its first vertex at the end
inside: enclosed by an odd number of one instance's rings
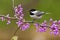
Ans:
POLYGON ((20 5, 18 5, 17 7, 15 7, 15 17, 18 19, 18 21, 16 22, 16 24, 18 25, 18 27, 20 27, 20 29, 22 31, 26 30, 27 28, 30 27, 29 23, 25 23, 23 20, 24 14, 23 14, 23 8, 20 5))

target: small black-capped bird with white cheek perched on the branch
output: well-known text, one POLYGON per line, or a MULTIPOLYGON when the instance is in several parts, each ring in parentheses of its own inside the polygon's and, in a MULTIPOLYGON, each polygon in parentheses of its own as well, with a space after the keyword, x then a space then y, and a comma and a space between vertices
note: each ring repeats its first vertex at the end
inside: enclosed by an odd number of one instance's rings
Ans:
POLYGON ((31 9, 30 10, 30 17, 33 19, 41 19, 44 14, 47 14, 43 11, 38 11, 36 9, 31 9))

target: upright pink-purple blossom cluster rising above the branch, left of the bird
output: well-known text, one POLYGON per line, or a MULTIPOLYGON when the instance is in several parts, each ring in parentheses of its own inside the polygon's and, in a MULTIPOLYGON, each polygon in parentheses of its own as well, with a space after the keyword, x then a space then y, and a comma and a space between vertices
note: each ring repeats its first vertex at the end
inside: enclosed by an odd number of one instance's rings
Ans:
POLYGON ((21 4, 18 5, 17 7, 15 7, 14 10, 15 10, 15 15, 14 16, 17 19, 22 20, 23 17, 24 17, 24 14, 23 14, 23 8, 22 8, 21 4))

